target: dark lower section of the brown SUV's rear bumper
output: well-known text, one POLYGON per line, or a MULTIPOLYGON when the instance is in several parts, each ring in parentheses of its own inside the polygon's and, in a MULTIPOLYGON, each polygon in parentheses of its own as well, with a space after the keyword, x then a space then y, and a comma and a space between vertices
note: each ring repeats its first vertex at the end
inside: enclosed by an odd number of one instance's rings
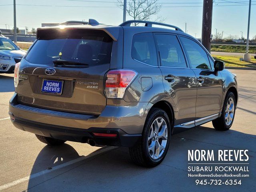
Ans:
POLYGON ((87 143, 89 142, 89 140, 94 140, 96 146, 108 145, 132 147, 136 145, 141 138, 141 134, 126 134, 126 132, 121 129, 92 127, 88 130, 84 130, 79 128, 69 128, 50 124, 43 124, 20 118, 15 118, 14 120, 12 120, 12 123, 16 128, 20 130, 46 137, 82 143, 87 143), (113 138, 100 137, 94 136, 93 132, 117 134, 117 136, 113 138))

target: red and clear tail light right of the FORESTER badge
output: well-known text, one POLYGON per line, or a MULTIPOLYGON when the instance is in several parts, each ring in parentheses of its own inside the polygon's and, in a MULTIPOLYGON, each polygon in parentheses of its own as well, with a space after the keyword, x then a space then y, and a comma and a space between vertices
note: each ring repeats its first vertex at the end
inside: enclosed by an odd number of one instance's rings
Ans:
POLYGON ((133 70, 111 70, 106 76, 106 96, 123 98, 126 88, 137 76, 133 70))

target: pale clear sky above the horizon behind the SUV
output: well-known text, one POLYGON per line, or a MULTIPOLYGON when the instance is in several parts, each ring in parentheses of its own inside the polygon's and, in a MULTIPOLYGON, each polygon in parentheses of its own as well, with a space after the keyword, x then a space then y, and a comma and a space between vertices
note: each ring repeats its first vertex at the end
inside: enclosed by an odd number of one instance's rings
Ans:
MULTIPOLYGON (((115 1, 16 0, 17 26, 20 29, 25 29, 25 26, 28 26, 28 29, 31 30, 32 27, 41 27, 41 23, 67 20, 87 21, 89 18, 94 18, 100 23, 119 25, 122 23, 122 10, 116 6, 115 1)), ((158 0, 158 2, 165 3, 162 4, 158 15, 166 18, 166 23, 176 25, 184 31, 185 23, 187 23, 188 33, 192 36, 196 35, 197 38, 201 37, 203 0, 158 0)), ((224 37, 229 34, 240 37, 242 31, 243 36, 246 37, 248 2, 249 0, 215 0, 212 14, 212 34, 215 35, 217 29, 217 32, 222 33, 223 31, 224 37)), ((10 4, 13 4, 13 0, 0 0, 0 28, 5 28, 5 24, 7 24, 7 28, 9 26, 13 28, 13 6, 10 4)), ((252 0, 252 4, 254 5, 251 9, 250 38, 256 36, 256 0, 252 0)), ((127 16, 127 19, 131 18, 127 16)))

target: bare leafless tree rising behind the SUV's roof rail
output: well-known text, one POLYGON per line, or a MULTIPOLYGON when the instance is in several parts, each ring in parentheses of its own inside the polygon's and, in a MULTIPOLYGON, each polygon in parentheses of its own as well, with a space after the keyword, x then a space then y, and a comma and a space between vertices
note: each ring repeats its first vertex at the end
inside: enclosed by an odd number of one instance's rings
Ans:
MULTIPOLYGON (((158 0, 129 0, 127 2, 126 11, 134 20, 151 20, 152 16, 157 15, 162 8, 162 4, 157 3, 158 0)), ((124 8, 123 0, 118 0, 117 6, 124 8)), ((155 22, 163 22, 165 18, 157 16, 155 22)), ((134 23, 138 25, 138 23, 134 23)))

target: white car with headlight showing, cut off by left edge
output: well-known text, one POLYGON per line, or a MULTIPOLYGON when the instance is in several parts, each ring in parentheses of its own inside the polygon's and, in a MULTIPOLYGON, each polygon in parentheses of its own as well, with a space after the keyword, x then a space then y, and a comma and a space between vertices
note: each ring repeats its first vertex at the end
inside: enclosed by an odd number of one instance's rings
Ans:
POLYGON ((9 38, 0 36, 0 73, 14 73, 15 64, 26 54, 9 38))

